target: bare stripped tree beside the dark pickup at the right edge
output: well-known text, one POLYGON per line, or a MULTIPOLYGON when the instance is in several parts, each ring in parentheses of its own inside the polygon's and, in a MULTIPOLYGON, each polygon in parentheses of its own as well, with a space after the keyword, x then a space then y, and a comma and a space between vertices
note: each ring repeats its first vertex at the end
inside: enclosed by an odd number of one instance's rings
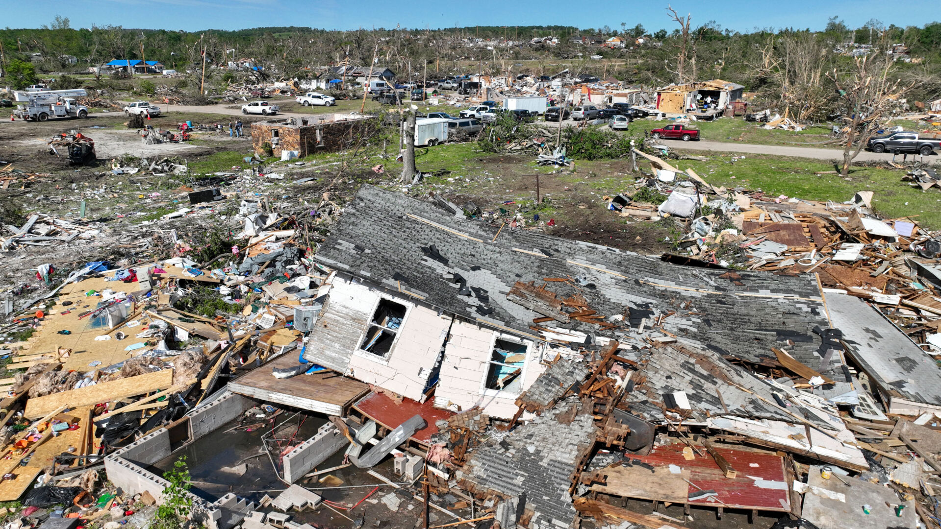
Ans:
POLYGON ((837 86, 842 106, 847 112, 847 133, 843 146, 843 166, 839 174, 850 174, 850 163, 866 148, 869 138, 885 126, 889 110, 915 82, 903 84, 892 80, 892 61, 882 56, 856 57, 848 70, 827 72, 826 76, 837 86))

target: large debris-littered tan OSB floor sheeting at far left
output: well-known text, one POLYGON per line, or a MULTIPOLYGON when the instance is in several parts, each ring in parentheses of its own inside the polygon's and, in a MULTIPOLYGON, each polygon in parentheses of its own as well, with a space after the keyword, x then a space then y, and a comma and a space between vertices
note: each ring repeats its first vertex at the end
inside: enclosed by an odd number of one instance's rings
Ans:
MULTIPOLYGON (((141 326, 125 327, 121 326, 111 333, 111 339, 106 341, 95 341, 95 336, 108 333, 107 327, 89 328, 91 317, 78 319, 78 315, 84 311, 95 308, 95 305, 101 301, 101 297, 86 297, 88 290, 97 290, 101 292, 105 288, 111 288, 115 291, 133 292, 139 287, 136 282, 121 283, 120 281, 104 281, 104 277, 92 277, 79 283, 66 285, 60 291, 57 304, 53 308, 56 314, 47 315, 40 327, 40 332, 29 339, 28 354, 40 354, 56 350, 56 346, 72 350, 72 355, 63 360, 62 368, 65 370, 74 369, 76 371, 87 372, 94 370, 89 366, 93 362, 101 362, 98 367, 117 364, 141 350, 132 352, 125 351, 128 345, 142 341, 134 337, 141 331, 141 326), (62 302, 71 301, 69 306, 62 306, 62 302), (86 307, 85 305, 88 305, 86 307), (63 311, 71 309, 69 314, 61 314, 63 311), (71 335, 59 335, 62 330, 71 331, 71 335), (129 337, 123 340, 116 340, 114 335, 122 331, 129 337)), ((135 318, 136 319, 136 318, 135 318)))

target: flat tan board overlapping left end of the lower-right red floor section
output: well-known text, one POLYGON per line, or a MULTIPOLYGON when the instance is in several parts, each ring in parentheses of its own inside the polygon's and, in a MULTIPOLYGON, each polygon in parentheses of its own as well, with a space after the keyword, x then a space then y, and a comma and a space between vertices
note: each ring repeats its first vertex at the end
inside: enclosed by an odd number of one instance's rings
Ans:
POLYGON ((672 504, 687 502, 689 485, 683 479, 690 479, 688 469, 683 469, 679 474, 672 474, 668 467, 654 467, 653 472, 650 472, 641 466, 619 466, 601 469, 600 473, 608 475, 605 485, 596 483, 591 486, 591 490, 672 504))

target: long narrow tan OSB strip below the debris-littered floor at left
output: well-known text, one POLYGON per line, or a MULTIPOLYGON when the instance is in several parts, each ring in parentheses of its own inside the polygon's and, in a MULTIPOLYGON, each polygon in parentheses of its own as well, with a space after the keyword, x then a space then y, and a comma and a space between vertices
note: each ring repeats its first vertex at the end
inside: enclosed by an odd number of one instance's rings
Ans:
POLYGON ((88 406, 125 397, 135 397, 158 389, 167 389, 173 385, 173 369, 162 369, 128 379, 101 382, 95 385, 54 393, 45 397, 30 398, 26 401, 24 415, 37 419, 59 406, 88 406))

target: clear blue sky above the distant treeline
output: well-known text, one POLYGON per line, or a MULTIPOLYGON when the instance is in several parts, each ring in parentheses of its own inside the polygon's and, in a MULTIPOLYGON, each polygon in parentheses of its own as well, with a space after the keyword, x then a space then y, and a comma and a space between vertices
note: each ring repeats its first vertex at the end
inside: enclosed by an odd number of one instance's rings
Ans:
MULTIPOLYGON (((723 28, 751 31, 756 27, 822 29, 838 15, 851 27, 876 18, 885 24, 923 25, 941 20, 936 0, 907 0, 901 10, 887 9, 885 0, 772 0, 751 2, 672 2, 680 13, 692 13, 694 25, 715 21, 723 28)), ((596 0, 582 3, 559 0, 517 0, 503 3, 389 2, 378 0, 86 0, 80 4, 61 0, 0 0, 5 14, 0 24, 39 27, 56 14, 69 17, 72 27, 122 25, 133 28, 196 31, 247 27, 298 25, 327 29, 357 27, 425 27, 473 25, 566 24, 578 27, 620 28, 644 24, 648 30, 667 28, 666 2, 596 0), (71 8, 70 8, 71 7, 71 8)))

